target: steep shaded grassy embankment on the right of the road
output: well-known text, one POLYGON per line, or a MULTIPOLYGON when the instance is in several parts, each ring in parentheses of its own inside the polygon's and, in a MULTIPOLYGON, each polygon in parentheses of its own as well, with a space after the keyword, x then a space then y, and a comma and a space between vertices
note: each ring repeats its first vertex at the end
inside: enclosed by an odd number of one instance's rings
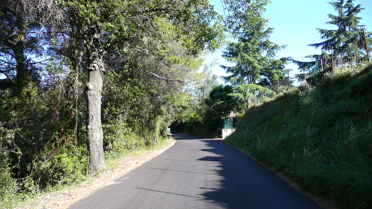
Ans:
POLYGON ((372 208, 372 65, 251 107, 225 142, 347 208, 372 208))

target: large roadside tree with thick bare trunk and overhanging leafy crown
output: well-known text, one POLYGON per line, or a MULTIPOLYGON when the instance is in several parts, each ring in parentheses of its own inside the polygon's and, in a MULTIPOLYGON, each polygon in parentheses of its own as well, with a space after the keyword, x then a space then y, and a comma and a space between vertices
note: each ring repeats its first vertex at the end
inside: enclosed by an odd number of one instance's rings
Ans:
POLYGON ((215 48, 218 44, 215 38, 221 35, 221 27, 217 13, 209 3, 199 0, 66 0, 60 6, 65 8, 67 22, 75 29, 71 37, 83 40, 86 51, 89 167, 93 171, 100 170, 105 168, 101 123, 101 97, 106 70, 104 56, 125 50, 125 45, 136 39, 160 39, 154 31, 167 27, 167 24, 169 28, 173 26, 173 38, 182 41, 189 53, 196 55, 205 45, 215 48))

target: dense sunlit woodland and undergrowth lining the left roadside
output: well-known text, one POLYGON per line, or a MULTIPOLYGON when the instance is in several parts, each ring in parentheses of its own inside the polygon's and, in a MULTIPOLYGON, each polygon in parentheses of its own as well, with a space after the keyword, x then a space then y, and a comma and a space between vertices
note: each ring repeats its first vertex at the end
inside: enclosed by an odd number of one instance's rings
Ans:
POLYGON ((202 0, 0 0, 0 207, 158 144, 215 84, 185 91, 202 52, 266 2, 224 25, 202 0))

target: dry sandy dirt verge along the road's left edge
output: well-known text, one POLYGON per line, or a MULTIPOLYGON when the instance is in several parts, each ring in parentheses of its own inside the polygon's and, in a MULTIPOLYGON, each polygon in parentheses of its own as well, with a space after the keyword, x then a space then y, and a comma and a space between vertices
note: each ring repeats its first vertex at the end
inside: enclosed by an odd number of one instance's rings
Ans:
POLYGON ((172 147, 176 141, 171 142, 170 144, 161 147, 159 149, 154 149, 150 151, 144 151, 141 155, 125 157, 119 161, 119 165, 114 170, 105 171, 99 176, 91 176, 88 180, 84 181, 78 186, 70 186, 59 193, 51 192, 46 195, 38 197, 37 200, 33 200, 33 203, 30 205, 22 206, 19 209, 24 208, 57 208, 63 209, 68 208, 78 200, 83 199, 84 197, 89 196, 96 190, 112 184, 115 179, 123 176, 134 168, 142 165, 143 163, 151 160, 152 158, 160 155, 162 152, 166 151, 172 147), (35 203, 35 202, 36 203, 35 203))

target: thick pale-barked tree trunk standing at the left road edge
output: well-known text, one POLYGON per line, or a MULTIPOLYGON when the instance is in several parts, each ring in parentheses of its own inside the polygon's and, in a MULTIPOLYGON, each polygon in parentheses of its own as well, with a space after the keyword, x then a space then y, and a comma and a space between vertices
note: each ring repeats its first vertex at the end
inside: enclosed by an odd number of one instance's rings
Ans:
POLYGON ((88 50, 88 83, 85 93, 87 96, 87 148, 89 168, 92 171, 106 168, 101 124, 102 72, 104 70, 102 54, 103 52, 96 49, 88 50))

